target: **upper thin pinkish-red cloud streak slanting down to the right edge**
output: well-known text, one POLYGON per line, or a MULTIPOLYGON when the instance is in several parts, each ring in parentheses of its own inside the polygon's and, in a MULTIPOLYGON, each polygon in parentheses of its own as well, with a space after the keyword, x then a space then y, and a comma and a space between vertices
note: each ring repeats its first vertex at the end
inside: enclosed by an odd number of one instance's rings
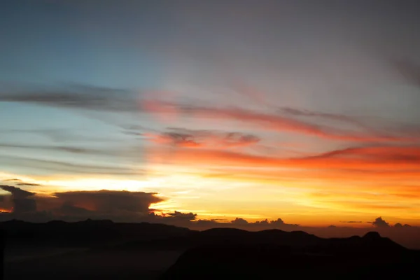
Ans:
POLYGON ((176 104, 158 100, 143 100, 144 111, 154 113, 157 116, 188 116, 192 118, 207 118, 219 120, 231 120, 245 123, 258 129, 273 130, 277 132, 295 132, 314 137, 335 139, 342 141, 414 141, 413 137, 395 137, 373 132, 353 132, 340 130, 335 127, 316 125, 307 121, 298 120, 290 116, 281 116, 274 113, 262 113, 235 107, 211 107, 176 104))

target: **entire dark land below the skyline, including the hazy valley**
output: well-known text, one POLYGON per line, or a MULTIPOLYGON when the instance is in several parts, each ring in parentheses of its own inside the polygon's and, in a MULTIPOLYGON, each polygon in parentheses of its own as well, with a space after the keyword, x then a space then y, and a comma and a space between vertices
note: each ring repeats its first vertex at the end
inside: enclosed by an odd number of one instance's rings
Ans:
POLYGON ((370 232, 306 232, 150 223, 9 221, 4 279, 416 279, 418 251, 370 232))

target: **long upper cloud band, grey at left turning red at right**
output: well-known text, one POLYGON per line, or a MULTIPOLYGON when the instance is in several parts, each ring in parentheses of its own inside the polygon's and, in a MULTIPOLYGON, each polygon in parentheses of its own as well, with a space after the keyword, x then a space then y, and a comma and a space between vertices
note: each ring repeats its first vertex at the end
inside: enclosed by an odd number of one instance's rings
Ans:
MULTIPOLYGON (((341 141, 415 141, 418 137, 407 135, 394 136, 388 132, 355 132, 341 130, 327 125, 318 125, 294 118, 296 116, 321 117, 330 120, 342 120, 347 123, 357 124, 359 127, 368 128, 354 118, 331 113, 302 111, 298 109, 283 108, 283 113, 262 113, 234 107, 212 107, 200 105, 176 104, 159 100, 139 99, 137 94, 127 90, 91 87, 87 85, 68 85, 65 89, 41 90, 32 92, 0 93, 0 101, 26 102, 58 106, 73 109, 89 109, 94 111, 114 111, 133 113, 143 110, 146 113, 155 113, 157 116, 189 116, 193 118, 211 118, 232 120, 246 125, 258 127, 263 130, 278 132, 294 132, 307 134, 314 137, 335 139, 341 141), (284 114, 285 113, 285 114, 284 114)), ((313 121, 313 120, 312 120, 313 121)), ((255 139, 254 139, 255 140, 255 139)), ((188 145, 188 142, 185 142, 188 145)), ((190 143, 194 145, 193 143, 190 143)))

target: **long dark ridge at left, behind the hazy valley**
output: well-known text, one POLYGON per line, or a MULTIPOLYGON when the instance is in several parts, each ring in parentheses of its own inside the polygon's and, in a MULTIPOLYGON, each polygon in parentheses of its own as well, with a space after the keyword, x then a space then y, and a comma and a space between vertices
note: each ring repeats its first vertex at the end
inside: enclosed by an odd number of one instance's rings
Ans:
POLYGON ((7 221, 0 223, 8 243, 36 244, 39 246, 95 246, 127 240, 152 240, 183 236, 188 228, 157 223, 113 223, 109 220, 90 220, 75 223, 50 221, 27 223, 7 221))

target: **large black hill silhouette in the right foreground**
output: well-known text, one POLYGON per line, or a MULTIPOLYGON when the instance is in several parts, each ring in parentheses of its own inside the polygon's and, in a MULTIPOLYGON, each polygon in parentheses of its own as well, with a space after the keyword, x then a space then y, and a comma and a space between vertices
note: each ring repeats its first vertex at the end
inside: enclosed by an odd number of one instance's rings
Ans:
POLYGON ((195 238, 200 241, 161 279, 410 279, 420 263, 418 252, 376 232, 322 239, 305 232, 217 229, 195 238))

